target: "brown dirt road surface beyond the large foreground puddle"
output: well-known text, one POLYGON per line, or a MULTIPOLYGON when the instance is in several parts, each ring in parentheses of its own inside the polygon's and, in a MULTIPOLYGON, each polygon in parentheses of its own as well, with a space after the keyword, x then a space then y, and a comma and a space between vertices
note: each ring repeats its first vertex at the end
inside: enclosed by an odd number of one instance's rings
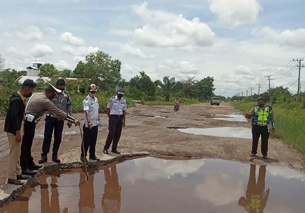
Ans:
MULTIPOLYGON (((279 139, 269 140, 269 159, 260 156, 251 158, 251 139, 216 137, 182 133, 171 127, 210 128, 210 127, 248 127, 249 122, 234 122, 215 120, 217 114, 238 112, 230 103, 211 106, 208 103, 181 105, 180 111, 173 112, 171 106, 137 105, 128 109, 127 124, 123 130, 118 150, 121 152, 149 152, 151 156, 176 158, 218 158, 240 162, 271 164, 304 168, 304 156, 286 146, 279 139), (160 116, 160 117, 155 117, 160 116), (170 127, 170 128, 169 128, 170 127)), ((75 114, 83 118, 82 114, 75 114)), ((104 155, 102 148, 108 134, 108 119, 101 116, 102 125, 99 127, 97 141, 97 156, 104 155)), ((0 129, 4 128, 4 117, 0 118, 0 129)), ((44 122, 36 128, 32 153, 38 163, 43 141, 44 122)), ((81 138, 79 128, 64 127, 63 141, 59 150, 60 156, 67 156, 70 149, 80 148, 81 138)), ((9 147, 6 132, 0 132, 0 185, 4 184, 8 174, 9 147)), ((50 153, 51 154, 51 153, 50 153)), ((62 159, 63 159, 62 157, 62 159)), ((51 159, 51 156, 48 156, 51 159)))

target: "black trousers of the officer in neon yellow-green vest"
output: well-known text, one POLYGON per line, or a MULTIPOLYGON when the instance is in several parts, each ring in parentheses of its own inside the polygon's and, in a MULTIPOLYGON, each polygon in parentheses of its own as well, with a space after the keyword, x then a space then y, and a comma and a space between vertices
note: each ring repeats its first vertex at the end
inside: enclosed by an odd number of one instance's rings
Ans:
POLYGON ((261 145, 261 152, 262 155, 268 154, 268 139, 269 139, 269 131, 268 126, 259 126, 259 125, 253 125, 252 126, 252 153, 257 153, 257 146, 258 146, 258 140, 261 136, 262 145, 261 145))

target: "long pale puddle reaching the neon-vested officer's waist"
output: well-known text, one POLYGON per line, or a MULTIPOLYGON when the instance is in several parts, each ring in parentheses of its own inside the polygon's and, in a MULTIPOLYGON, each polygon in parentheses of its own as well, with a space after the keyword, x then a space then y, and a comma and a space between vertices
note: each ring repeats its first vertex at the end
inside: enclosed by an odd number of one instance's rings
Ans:
POLYGON ((197 134, 197 135, 211 135, 218 137, 237 137, 237 138, 252 138, 252 131, 249 128, 243 127, 217 127, 217 128, 186 128, 177 129, 180 132, 197 134))

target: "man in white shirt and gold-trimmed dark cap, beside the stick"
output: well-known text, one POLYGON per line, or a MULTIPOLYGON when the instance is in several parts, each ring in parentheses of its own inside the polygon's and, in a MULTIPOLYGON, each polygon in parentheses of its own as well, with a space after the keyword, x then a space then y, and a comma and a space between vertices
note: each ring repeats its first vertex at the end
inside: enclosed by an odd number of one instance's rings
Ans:
POLYGON ((86 156, 89 150, 89 159, 100 160, 96 155, 96 144, 98 138, 98 125, 100 123, 99 101, 96 97, 97 86, 92 84, 88 88, 88 96, 83 100, 84 122, 83 138, 84 151, 81 148, 81 161, 87 161, 86 156))

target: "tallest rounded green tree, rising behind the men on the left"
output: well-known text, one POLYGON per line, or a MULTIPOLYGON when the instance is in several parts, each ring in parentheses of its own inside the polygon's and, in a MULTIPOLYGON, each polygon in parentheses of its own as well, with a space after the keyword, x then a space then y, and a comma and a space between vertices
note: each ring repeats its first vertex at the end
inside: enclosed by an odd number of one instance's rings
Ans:
POLYGON ((115 88, 121 80, 121 62, 112 60, 109 54, 102 51, 90 53, 86 56, 85 77, 92 81, 101 89, 115 88))

